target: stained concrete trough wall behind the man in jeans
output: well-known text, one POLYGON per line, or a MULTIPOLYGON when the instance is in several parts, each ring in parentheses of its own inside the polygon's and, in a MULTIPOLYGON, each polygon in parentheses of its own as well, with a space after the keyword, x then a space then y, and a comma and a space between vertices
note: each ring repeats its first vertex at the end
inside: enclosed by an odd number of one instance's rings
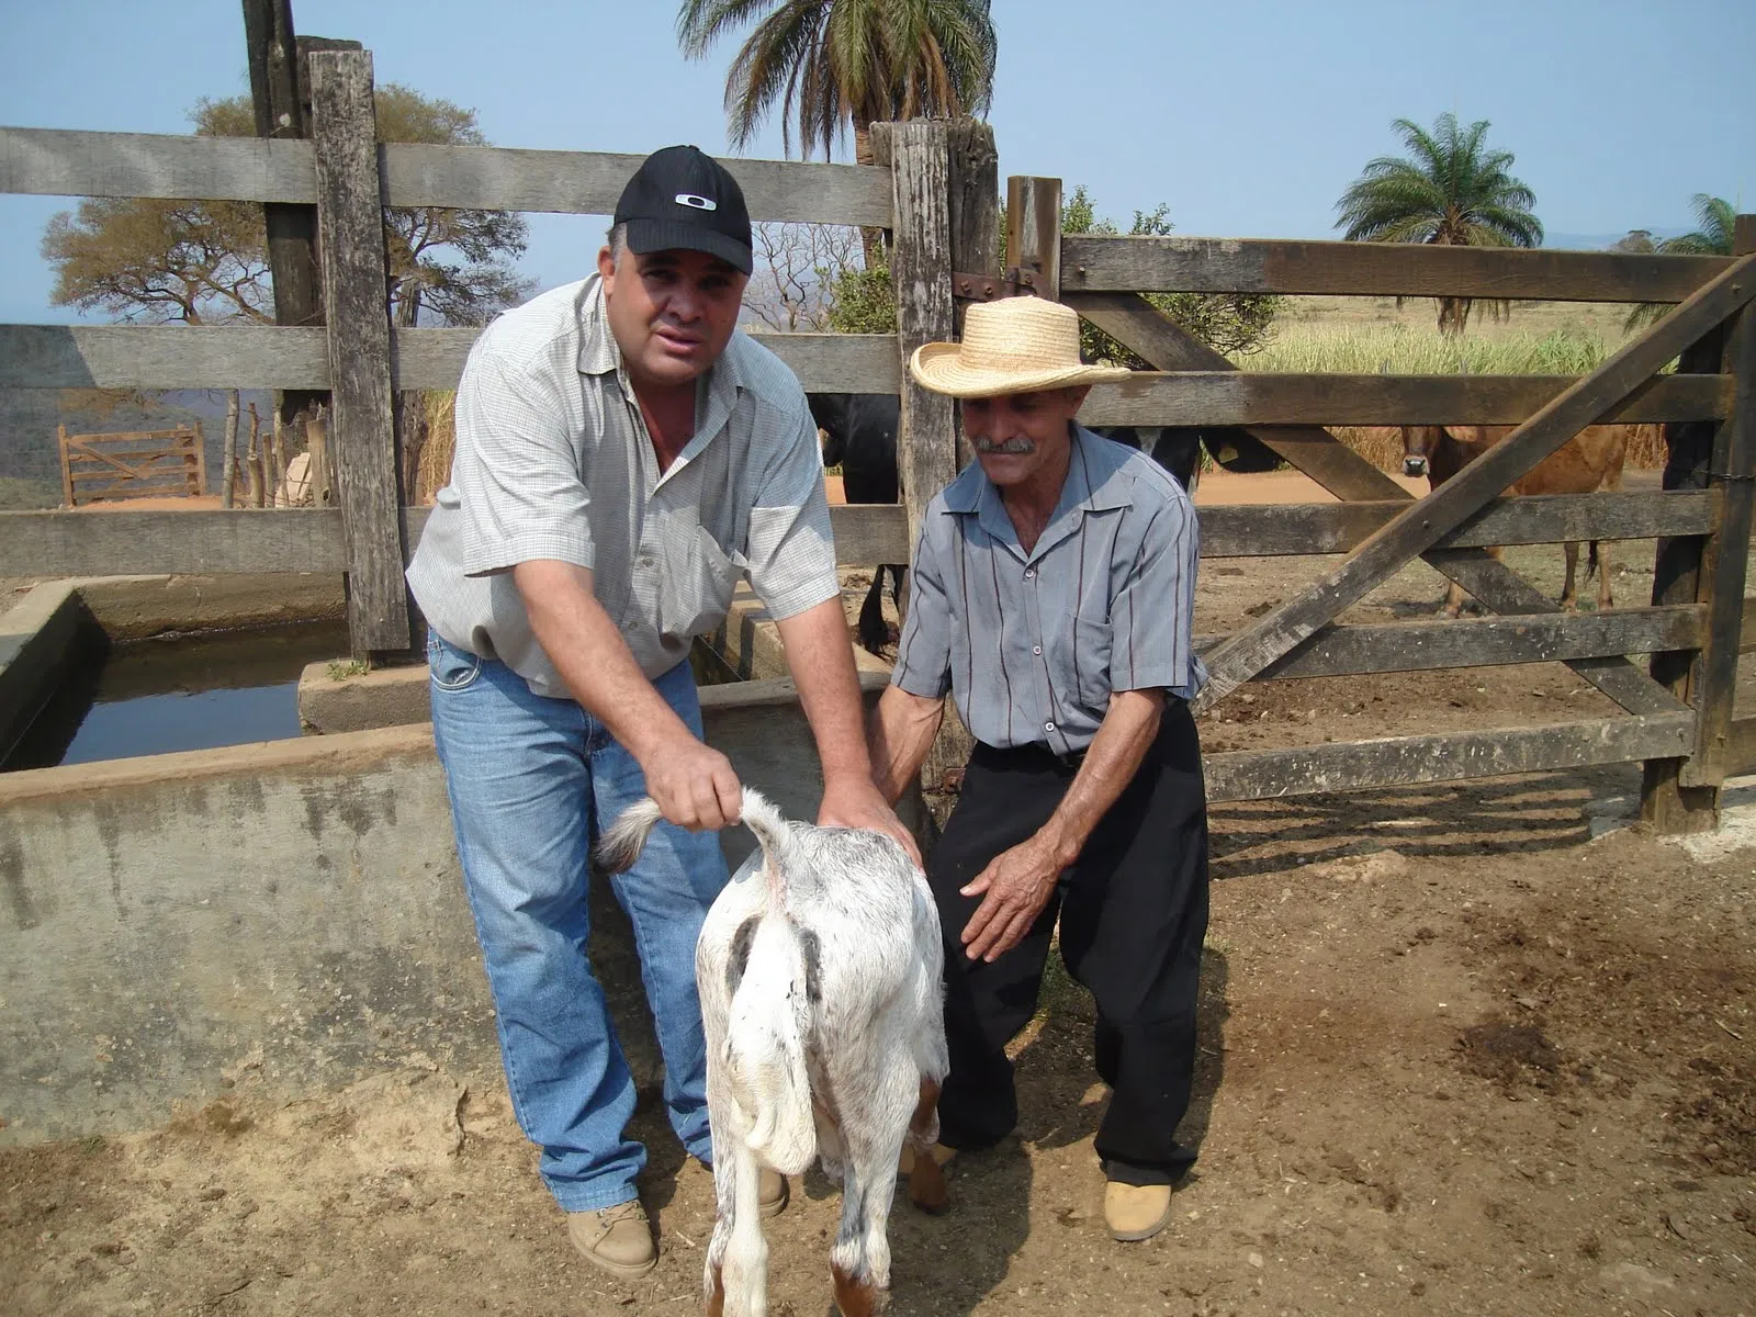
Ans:
MULTIPOLYGON (((702 704, 739 774, 810 817, 790 685, 702 704)), ((653 1083, 627 925, 599 897, 594 964, 653 1083)), ((293 1096, 414 1052, 499 1066, 428 727, 0 776, 0 1141, 151 1127, 241 1068, 293 1096)))

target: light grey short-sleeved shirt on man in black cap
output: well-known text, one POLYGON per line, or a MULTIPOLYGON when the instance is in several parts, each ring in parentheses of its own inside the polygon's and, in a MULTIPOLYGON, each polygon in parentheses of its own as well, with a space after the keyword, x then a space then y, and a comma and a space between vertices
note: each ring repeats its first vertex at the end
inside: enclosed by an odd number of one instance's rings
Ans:
POLYGON ((839 592, 817 425, 792 371, 732 334, 697 383, 694 437, 660 474, 595 274, 476 339, 435 504, 409 564, 428 625, 539 695, 569 692, 530 632, 520 562, 590 567, 648 678, 720 625, 739 576, 774 618, 839 592))

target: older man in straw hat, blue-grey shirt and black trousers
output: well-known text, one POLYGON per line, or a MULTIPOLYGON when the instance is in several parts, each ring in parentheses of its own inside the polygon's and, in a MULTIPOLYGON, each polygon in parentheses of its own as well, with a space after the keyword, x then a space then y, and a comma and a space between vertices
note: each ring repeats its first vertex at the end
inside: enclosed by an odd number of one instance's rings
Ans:
POLYGON ((910 374, 962 400, 976 453, 927 507, 892 685, 871 722, 878 785, 918 773, 945 695, 976 739, 927 864, 946 941, 952 1071, 941 1147, 1018 1119, 1006 1043, 1036 1010, 1055 917, 1098 1004, 1105 1220, 1145 1240, 1194 1161, 1189 1106, 1208 915, 1206 795, 1187 701, 1196 515, 1150 458, 1075 421, 1090 385, 1078 316, 1017 297, 969 309, 964 341, 910 374))

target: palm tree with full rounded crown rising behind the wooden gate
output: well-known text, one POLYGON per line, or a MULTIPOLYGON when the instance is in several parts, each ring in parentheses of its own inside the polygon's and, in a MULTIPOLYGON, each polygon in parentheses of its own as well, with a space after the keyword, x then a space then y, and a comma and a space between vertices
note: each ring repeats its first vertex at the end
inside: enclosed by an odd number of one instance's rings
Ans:
MULTIPOLYGON (((1510 151, 1484 146, 1487 119, 1468 128, 1447 111, 1426 132, 1408 119, 1391 125, 1412 160, 1378 156, 1335 204, 1336 228, 1349 242, 1436 242, 1465 248, 1535 248, 1542 223, 1531 214, 1536 195, 1507 170, 1510 151)), ((1440 334, 1463 334, 1472 299, 1440 297, 1440 334)), ((1505 314, 1505 302, 1489 302, 1505 314)))

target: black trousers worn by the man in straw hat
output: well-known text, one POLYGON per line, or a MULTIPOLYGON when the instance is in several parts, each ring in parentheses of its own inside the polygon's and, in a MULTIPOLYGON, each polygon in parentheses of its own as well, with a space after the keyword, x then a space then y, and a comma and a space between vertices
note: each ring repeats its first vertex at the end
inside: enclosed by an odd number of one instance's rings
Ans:
POLYGON ((1171 1184, 1194 1162, 1175 1140, 1189 1110, 1196 997, 1208 920, 1206 792, 1189 706, 1169 701, 1134 780, 1103 817, 1024 941, 992 964, 971 961, 962 929, 980 897, 957 889, 1041 827, 1076 766, 1047 748, 976 745, 957 808, 927 862, 945 934, 945 1031, 952 1071, 939 1094, 941 1140, 983 1148, 1018 1124, 1006 1043, 1036 1013, 1050 932, 1098 1003, 1096 1062, 1110 1085, 1098 1129, 1105 1175, 1171 1184))

